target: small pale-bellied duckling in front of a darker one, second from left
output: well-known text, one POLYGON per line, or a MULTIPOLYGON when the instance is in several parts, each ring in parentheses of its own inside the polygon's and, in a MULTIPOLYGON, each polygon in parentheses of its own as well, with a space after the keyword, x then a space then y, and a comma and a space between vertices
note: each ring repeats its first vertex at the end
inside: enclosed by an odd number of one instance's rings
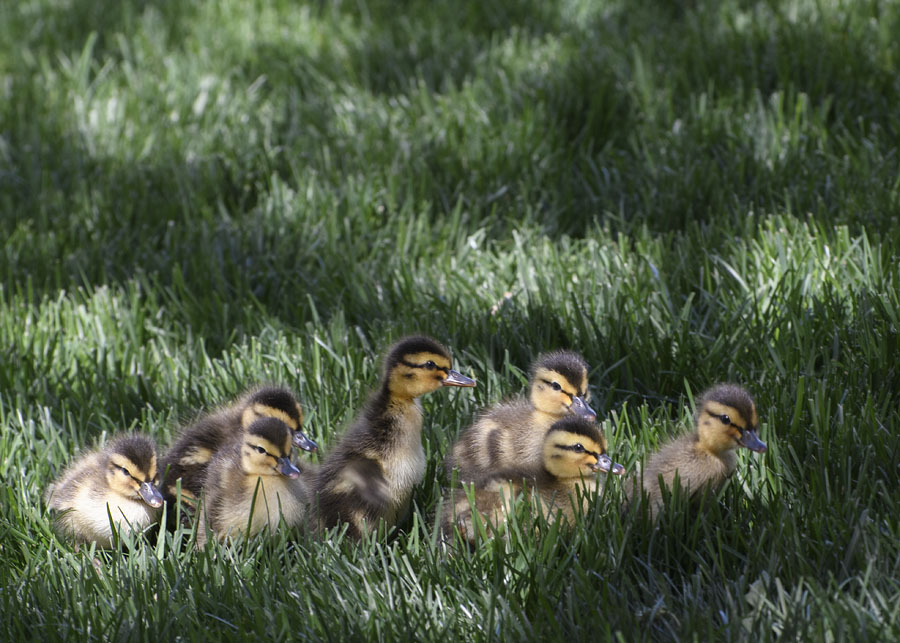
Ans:
MULTIPOLYGON (((248 525, 252 536, 282 520, 289 527, 303 522, 310 489, 291 462, 292 440, 287 424, 260 416, 216 451, 203 484, 201 525, 217 540, 243 534, 248 525)), ((207 538, 201 527, 197 545, 207 538)))

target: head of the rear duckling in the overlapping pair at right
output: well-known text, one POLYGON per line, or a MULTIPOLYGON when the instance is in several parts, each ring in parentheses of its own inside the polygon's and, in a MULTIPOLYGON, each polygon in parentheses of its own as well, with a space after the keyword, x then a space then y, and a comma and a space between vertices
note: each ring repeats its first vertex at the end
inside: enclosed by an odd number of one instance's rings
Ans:
POLYGON ((531 403, 544 413, 594 419, 597 413, 587 403, 587 385, 587 362, 578 353, 544 353, 531 366, 531 403))

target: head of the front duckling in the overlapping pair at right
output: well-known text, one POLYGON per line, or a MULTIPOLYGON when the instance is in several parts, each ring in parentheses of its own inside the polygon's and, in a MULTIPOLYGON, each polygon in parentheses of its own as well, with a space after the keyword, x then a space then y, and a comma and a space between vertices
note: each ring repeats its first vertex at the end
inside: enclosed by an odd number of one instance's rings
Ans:
POLYGON ((553 424, 544 438, 544 467, 557 478, 588 477, 599 471, 620 476, 625 467, 606 454, 606 438, 596 424, 568 416, 553 424))

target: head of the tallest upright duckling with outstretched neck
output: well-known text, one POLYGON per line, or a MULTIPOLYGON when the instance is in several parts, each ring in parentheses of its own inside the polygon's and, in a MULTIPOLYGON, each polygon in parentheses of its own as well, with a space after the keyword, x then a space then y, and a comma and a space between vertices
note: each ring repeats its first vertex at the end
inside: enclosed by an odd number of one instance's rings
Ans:
POLYGON ((384 381, 391 395, 416 398, 442 386, 475 386, 452 368, 450 351, 430 337, 401 339, 387 353, 384 381))

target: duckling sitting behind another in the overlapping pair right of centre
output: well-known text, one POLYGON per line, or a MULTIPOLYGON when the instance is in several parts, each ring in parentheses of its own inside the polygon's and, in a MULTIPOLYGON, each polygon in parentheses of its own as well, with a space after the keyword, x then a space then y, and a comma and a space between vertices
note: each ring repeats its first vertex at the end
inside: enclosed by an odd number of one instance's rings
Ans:
POLYGON ((594 419, 587 399, 587 363, 578 353, 555 351, 531 365, 530 394, 487 409, 451 447, 448 476, 473 482, 492 471, 516 469, 537 475, 547 429, 568 415, 594 419))

